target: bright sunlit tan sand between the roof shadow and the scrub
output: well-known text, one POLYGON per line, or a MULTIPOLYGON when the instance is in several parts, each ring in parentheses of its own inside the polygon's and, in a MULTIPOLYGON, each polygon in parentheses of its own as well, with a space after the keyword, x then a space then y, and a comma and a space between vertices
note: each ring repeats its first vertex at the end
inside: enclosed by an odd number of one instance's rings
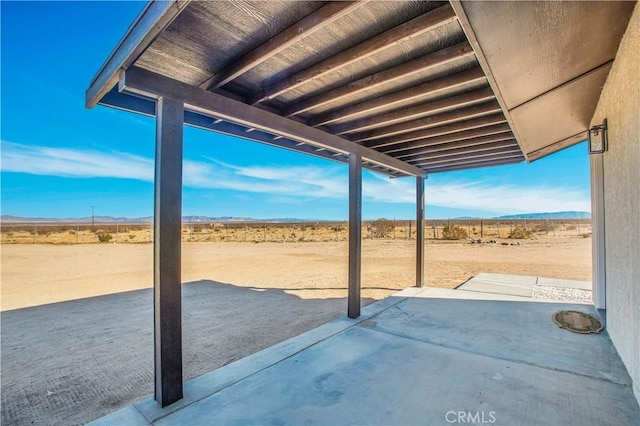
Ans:
MULTIPOLYGON (((505 240, 507 241, 507 240, 505 240)), ((591 239, 541 236, 520 246, 430 241, 426 284, 455 287, 479 272, 591 279, 591 239)), ((2 311, 152 286, 152 245, 3 245, 2 311)), ((364 240, 362 295, 414 285, 415 241, 364 240)), ((183 282, 279 288, 301 298, 343 297, 347 243, 188 243, 183 282)))

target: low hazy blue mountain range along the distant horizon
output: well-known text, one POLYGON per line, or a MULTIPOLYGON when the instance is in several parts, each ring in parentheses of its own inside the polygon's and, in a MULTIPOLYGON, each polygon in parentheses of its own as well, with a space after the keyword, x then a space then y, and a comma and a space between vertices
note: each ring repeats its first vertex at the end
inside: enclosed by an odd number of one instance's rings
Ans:
MULTIPOLYGON (((552 212, 552 213, 523 213, 507 216, 494 217, 492 219, 590 219, 591 213, 589 212, 552 212)), ((479 219, 473 217, 458 217, 455 219, 479 219)), ((454 220, 455 220, 454 219, 454 220)), ((113 216, 91 216, 86 217, 65 217, 65 218, 46 218, 46 217, 21 217, 2 215, 0 221, 4 223, 33 223, 33 222, 47 222, 47 223, 151 223, 153 222, 153 216, 145 217, 113 217, 113 216)), ((270 222, 270 223, 299 223, 299 222, 330 222, 328 220, 318 219, 298 219, 292 217, 285 218, 271 218, 271 219, 254 219, 250 217, 233 217, 233 216, 183 216, 183 222, 270 222)))

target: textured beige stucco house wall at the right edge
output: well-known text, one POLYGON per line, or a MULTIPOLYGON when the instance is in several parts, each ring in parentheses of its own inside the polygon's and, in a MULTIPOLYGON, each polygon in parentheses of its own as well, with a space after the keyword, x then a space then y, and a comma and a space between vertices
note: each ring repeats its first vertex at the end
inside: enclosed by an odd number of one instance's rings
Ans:
POLYGON ((640 401, 640 4, 591 124, 605 118, 609 127, 609 150, 603 154, 607 329, 640 401))

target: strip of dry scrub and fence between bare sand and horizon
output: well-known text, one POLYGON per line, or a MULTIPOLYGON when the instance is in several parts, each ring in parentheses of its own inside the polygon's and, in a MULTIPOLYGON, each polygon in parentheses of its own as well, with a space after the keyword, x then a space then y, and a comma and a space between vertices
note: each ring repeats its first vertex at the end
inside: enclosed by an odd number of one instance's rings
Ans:
MULTIPOLYGON (((424 221, 427 240, 447 238, 458 232, 464 238, 508 238, 514 230, 549 236, 576 235, 588 231, 590 220, 508 219, 427 219, 424 221)), ((415 240, 415 220, 388 220, 387 229, 378 229, 379 221, 363 222, 363 238, 415 240)), ((151 223, 2 223, 3 243, 151 243, 151 223)), ((349 223, 338 222, 185 222, 183 242, 340 242, 348 241, 349 223)))

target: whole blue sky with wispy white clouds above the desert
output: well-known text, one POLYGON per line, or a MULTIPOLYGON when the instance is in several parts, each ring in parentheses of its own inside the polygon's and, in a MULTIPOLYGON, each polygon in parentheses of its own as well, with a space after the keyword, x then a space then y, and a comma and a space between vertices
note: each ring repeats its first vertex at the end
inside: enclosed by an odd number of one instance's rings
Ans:
MULTIPOLYGON (((91 78, 143 3, 0 3, 2 214, 148 216, 155 122, 84 108, 91 78)), ((346 165, 185 127, 183 214, 347 217, 346 165)), ((363 176, 363 217, 412 218, 415 180, 363 176)), ((531 164, 439 173, 427 217, 589 211, 579 144, 531 164)))

